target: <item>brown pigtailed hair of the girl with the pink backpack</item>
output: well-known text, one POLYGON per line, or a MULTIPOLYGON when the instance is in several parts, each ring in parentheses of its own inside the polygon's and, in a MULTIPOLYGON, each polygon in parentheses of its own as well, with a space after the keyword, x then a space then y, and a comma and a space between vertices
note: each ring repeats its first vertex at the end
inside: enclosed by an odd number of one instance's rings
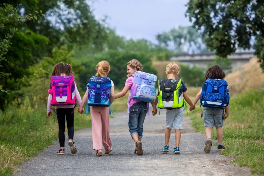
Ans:
POLYGON ((70 64, 66 64, 64 62, 60 62, 54 65, 51 75, 52 76, 60 76, 61 74, 74 76, 74 72, 72 70, 72 66, 70 64))

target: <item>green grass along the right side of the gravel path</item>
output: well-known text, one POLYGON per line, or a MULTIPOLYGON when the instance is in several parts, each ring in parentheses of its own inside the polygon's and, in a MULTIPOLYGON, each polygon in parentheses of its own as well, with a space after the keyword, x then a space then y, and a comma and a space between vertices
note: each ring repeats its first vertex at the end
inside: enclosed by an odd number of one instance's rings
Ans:
MULTIPOLYGON (((230 114, 223 127, 223 144, 227 148, 223 154, 234 156, 239 166, 251 167, 252 174, 264 174, 263 107, 264 91, 231 95, 230 114)), ((196 132, 205 133, 200 103, 190 116, 196 132)), ((217 139, 215 128, 212 137, 217 139)))

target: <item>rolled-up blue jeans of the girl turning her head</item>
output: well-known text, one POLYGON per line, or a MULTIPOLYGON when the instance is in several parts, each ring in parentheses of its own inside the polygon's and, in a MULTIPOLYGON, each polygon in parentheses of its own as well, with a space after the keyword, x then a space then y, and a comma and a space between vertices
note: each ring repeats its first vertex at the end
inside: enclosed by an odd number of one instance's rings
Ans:
POLYGON ((129 108, 128 127, 130 135, 138 135, 138 138, 143 136, 143 123, 147 114, 147 103, 137 102, 129 108))

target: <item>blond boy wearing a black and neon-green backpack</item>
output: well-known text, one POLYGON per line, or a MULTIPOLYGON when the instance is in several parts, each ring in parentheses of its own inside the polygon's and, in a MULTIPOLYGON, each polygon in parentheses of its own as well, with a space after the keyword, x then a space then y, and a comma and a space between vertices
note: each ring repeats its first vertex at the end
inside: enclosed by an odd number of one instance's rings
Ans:
POLYGON ((159 79, 159 91, 155 101, 156 105, 158 103, 160 109, 166 109, 165 146, 162 152, 167 153, 169 151, 169 139, 174 124, 175 146, 173 154, 180 154, 180 130, 182 129, 183 114, 186 109, 185 101, 190 105, 191 110, 195 109, 195 106, 187 95, 187 88, 183 81, 176 79, 178 73, 179 66, 176 63, 170 63, 166 66, 167 79, 159 79))

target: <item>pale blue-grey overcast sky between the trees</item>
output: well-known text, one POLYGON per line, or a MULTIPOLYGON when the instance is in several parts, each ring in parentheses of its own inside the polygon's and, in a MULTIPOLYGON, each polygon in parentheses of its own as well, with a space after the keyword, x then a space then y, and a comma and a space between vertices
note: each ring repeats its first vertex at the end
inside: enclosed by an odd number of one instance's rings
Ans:
POLYGON ((190 26, 184 13, 188 0, 97 0, 91 7, 96 19, 108 16, 109 27, 127 39, 147 39, 178 26, 190 26))

